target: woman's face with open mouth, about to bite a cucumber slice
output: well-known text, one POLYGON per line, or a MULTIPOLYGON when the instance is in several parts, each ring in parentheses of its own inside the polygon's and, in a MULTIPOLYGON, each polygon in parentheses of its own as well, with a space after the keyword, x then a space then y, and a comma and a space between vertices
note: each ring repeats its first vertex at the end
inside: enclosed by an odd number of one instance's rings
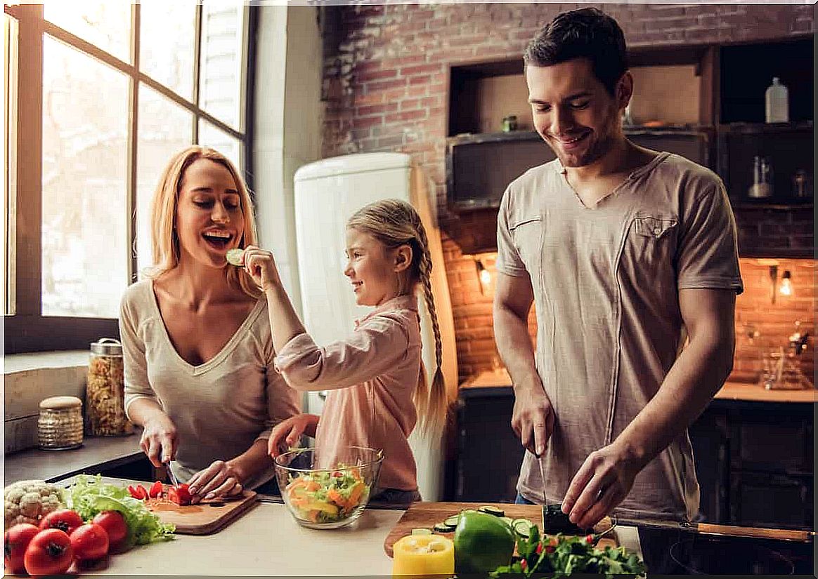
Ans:
POLYGON ((236 182, 227 167, 200 158, 185 170, 180 189, 176 208, 180 260, 223 268, 227 250, 238 247, 244 235, 236 182))

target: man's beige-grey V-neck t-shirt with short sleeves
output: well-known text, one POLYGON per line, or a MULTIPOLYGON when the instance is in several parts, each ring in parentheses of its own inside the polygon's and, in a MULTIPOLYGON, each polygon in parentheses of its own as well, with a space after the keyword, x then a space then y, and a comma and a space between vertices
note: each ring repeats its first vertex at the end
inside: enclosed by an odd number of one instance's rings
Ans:
MULTIPOLYGON (((735 220, 712 171, 658 154, 595 207, 558 160, 506 189, 497 219, 497 271, 531 278, 535 359, 554 408, 543 468, 562 500, 587 456, 616 439, 654 397, 686 339, 678 292, 740 293, 735 220)), ((518 490, 542 501, 526 452, 518 490)), ((699 484, 686 430, 636 476, 618 508, 631 516, 692 518, 699 484)))

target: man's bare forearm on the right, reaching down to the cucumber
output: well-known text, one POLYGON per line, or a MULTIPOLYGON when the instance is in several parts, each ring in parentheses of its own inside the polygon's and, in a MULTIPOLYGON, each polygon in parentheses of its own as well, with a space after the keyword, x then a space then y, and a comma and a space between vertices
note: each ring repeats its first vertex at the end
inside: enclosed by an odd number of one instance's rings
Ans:
POLYGON ((707 408, 730 375, 731 337, 720 341, 691 340, 667 372, 658 393, 614 441, 646 465, 707 408))

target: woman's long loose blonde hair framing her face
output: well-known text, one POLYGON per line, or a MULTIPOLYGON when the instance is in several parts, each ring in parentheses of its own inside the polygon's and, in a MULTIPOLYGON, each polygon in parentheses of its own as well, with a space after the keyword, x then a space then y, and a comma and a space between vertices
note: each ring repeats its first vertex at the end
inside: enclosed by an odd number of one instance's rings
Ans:
MULTIPOLYGON (((250 199, 245 180, 230 159, 215 149, 191 145, 182 149, 170 158, 167 167, 162 171, 159 185, 151 203, 151 241, 153 242, 154 267, 149 272, 151 278, 159 278, 179 265, 179 236, 176 233, 176 212, 179 206, 179 194, 182 192, 182 178, 187 167, 190 167, 200 158, 209 159, 226 168, 236 182, 242 215, 245 220, 244 234, 239 240, 239 247, 247 247, 256 243, 255 216, 253 202, 250 199)), ((227 283, 236 287, 248 296, 258 299, 261 290, 254 283, 253 278, 238 267, 225 268, 227 283)))

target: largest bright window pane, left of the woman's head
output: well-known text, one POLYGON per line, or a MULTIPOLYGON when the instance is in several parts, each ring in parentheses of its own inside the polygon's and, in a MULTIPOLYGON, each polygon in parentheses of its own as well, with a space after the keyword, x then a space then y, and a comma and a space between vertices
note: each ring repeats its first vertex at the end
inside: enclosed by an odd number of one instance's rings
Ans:
POLYGON ((128 78, 43 41, 43 315, 116 318, 128 281, 128 78))

